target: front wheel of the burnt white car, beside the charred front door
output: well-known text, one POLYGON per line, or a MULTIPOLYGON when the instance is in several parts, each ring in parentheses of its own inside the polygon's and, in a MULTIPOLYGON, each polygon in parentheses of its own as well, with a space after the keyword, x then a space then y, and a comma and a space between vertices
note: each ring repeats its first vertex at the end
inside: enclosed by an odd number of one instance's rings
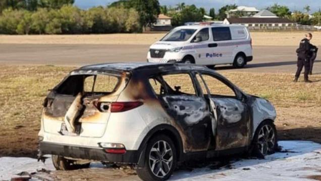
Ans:
POLYGON ((266 155, 275 153, 277 149, 277 129, 271 120, 265 120, 256 128, 252 141, 252 155, 264 158, 266 155))

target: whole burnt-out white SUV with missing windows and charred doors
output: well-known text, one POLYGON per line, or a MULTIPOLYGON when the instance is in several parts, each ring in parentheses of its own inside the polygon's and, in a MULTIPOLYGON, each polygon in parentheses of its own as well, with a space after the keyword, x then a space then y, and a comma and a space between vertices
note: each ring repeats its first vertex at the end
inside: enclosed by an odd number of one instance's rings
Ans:
POLYGON ((277 148, 273 105, 202 66, 85 66, 43 105, 39 156, 52 154, 62 170, 99 160, 133 164, 143 180, 164 180, 191 157, 264 156, 277 148))

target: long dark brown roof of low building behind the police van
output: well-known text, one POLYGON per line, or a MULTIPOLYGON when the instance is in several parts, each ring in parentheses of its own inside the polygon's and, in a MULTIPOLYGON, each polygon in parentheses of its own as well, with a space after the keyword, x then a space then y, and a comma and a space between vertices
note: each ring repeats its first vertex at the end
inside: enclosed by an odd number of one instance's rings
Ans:
POLYGON ((294 23, 286 18, 227 18, 231 24, 236 23, 294 23))

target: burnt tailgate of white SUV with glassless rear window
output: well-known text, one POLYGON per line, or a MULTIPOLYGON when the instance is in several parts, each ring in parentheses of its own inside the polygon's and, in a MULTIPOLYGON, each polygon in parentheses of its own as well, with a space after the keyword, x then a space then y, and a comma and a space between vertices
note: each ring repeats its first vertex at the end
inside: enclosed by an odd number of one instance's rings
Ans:
POLYGON ((44 102, 45 132, 80 137, 102 137, 116 102, 126 85, 120 74, 75 74, 60 83, 44 102))

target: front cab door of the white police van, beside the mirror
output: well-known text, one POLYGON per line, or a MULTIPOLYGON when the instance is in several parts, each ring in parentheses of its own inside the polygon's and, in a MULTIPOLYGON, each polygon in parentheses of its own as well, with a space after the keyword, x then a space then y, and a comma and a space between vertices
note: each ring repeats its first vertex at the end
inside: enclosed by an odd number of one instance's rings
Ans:
POLYGON ((206 57, 206 54, 210 52, 208 44, 210 41, 209 28, 203 28, 196 33, 196 35, 191 40, 191 48, 194 49, 194 58, 196 64, 210 65, 211 60, 206 57))

